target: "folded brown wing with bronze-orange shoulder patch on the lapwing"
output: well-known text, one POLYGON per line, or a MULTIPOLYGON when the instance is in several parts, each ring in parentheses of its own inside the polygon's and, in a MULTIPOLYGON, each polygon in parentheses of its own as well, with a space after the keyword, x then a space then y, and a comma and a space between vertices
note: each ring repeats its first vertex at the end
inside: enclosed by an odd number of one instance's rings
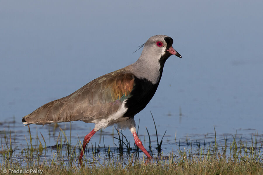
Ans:
POLYGON ((134 76, 125 70, 106 74, 67 97, 51 101, 23 117, 24 124, 49 124, 82 120, 92 122, 115 114, 134 87, 134 76))

